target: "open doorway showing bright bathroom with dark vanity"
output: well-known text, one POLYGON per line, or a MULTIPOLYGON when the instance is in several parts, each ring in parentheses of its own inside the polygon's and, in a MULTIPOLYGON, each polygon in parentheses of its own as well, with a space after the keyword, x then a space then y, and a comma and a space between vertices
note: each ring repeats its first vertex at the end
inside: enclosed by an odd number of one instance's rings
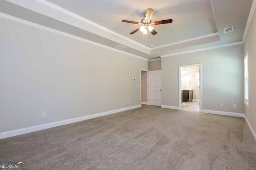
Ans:
POLYGON ((179 109, 202 110, 201 64, 179 66, 179 109))

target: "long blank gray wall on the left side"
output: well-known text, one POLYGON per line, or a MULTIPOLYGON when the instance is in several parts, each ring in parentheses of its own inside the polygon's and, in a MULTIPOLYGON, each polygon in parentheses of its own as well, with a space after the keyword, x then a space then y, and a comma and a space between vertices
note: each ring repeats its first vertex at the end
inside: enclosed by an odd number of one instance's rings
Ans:
POLYGON ((140 69, 148 70, 148 61, 0 23, 0 133, 141 104, 140 69))

